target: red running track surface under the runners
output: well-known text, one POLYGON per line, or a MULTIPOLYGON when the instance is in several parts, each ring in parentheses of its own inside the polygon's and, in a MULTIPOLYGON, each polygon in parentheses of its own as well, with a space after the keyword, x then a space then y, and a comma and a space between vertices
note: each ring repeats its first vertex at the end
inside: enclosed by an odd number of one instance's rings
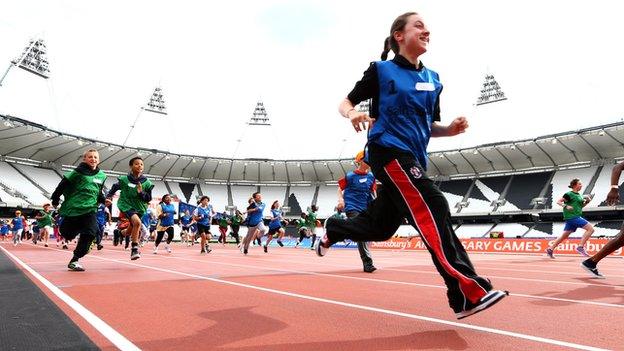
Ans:
MULTIPOLYGON (((319 258, 308 249, 251 248, 243 256, 213 246, 200 255, 197 246, 174 245, 172 254, 153 255, 150 243, 130 261, 108 245, 81 260, 86 272, 66 270, 69 251, 2 247, 145 350, 624 348, 622 259, 603 260, 607 279, 596 280, 580 257, 473 254, 477 271, 511 296, 457 321, 427 253, 373 251, 379 270, 368 274, 355 250, 319 258)), ((51 298, 97 345, 116 349, 51 298)))

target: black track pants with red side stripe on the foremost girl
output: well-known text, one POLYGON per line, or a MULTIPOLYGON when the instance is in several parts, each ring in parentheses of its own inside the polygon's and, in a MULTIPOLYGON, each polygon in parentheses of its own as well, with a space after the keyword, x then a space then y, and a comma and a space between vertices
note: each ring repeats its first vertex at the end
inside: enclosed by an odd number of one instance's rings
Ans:
POLYGON ((425 175, 411 153, 369 144, 369 164, 383 188, 359 216, 329 218, 331 242, 384 241, 390 239, 404 218, 420 232, 433 263, 444 278, 449 304, 455 312, 466 302, 476 303, 492 285, 479 277, 451 225, 448 202, 425 175))

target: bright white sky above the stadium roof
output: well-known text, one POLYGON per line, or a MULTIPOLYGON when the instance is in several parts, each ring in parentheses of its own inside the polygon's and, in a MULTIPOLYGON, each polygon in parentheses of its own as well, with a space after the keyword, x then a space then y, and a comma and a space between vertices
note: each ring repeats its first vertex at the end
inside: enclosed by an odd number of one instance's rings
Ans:
POLYGON ((11 68, 0 113, 102 141, 213 157, 350 158, 365 144, 338 104, 379 59, 392 21, 419 12, 424 64, 440 74, 442 124, 470 128, 429 150, 621 121, 618 1, 5 2, 0 74, 31 38, 44 80, 11 68), (476 107, 492 74, 506 101, 476 107), (156 86, 169 114, 141 110, 156 86), (247 125, 262 101, 271 126, 247 125))

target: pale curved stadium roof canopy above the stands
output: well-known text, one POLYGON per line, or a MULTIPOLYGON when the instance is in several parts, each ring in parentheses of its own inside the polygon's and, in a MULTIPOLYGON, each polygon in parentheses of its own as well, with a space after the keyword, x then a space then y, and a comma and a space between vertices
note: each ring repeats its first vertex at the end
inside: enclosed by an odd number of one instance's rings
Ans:
MULTIPOLYGON (((156 178, 251 184, 335 182, 353 168, 352 159, 228 159, 122 147, 102 140, 52 130, 21 118, 0 115, 0 155, 16 162, 73 167, 89 148, 100 152, 100 167, 127 172, 130 158, 145 160, 156 178)), ((517 174, 609 164, 624 157, 624 122, 533 139, 505 141, 429 154, 432 178, 448 179, 517 174)))

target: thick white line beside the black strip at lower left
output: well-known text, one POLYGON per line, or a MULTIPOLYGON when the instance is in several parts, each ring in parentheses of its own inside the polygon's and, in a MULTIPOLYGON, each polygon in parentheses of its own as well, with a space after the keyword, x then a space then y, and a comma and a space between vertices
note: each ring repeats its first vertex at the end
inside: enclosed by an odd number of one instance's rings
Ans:
MULTIPOLYGON (((136 345, 134 345, 130 340, 126 339, 123 335, 119 334, 115 329, 113 329, 110 325, 106 324, 103 320, 101 320, 98 316, 96 316, 93 312, 86 309, 76 300, 71 298, 69 295, 64 293, 61 289, 52 284, 49 280, 44 278, 41 274, 37 273, 34 269, 30 268, 26 263, 17 258, 15 255, 10 253, 7 249, 0 246, 0 249, 4 251, 4 253, 9 256, 14 262, 19 264, 22 268, 28 271, 33 277, 35 277, 41 284, 43 284, 46 288, 48 288, 54 295, 56 295, 61 301, 65 302, 69 307, 71 307, 76 313, 78 313, 84 320, 86 320, 89 324, 91 324, 95 330, 104 335, 106 339, 108 339, 113 345, 118 347, 123 351, 131 351, 131 350, 140 350, 136 345)), ((79 273, 78 273, 79 274, 79 273)))

